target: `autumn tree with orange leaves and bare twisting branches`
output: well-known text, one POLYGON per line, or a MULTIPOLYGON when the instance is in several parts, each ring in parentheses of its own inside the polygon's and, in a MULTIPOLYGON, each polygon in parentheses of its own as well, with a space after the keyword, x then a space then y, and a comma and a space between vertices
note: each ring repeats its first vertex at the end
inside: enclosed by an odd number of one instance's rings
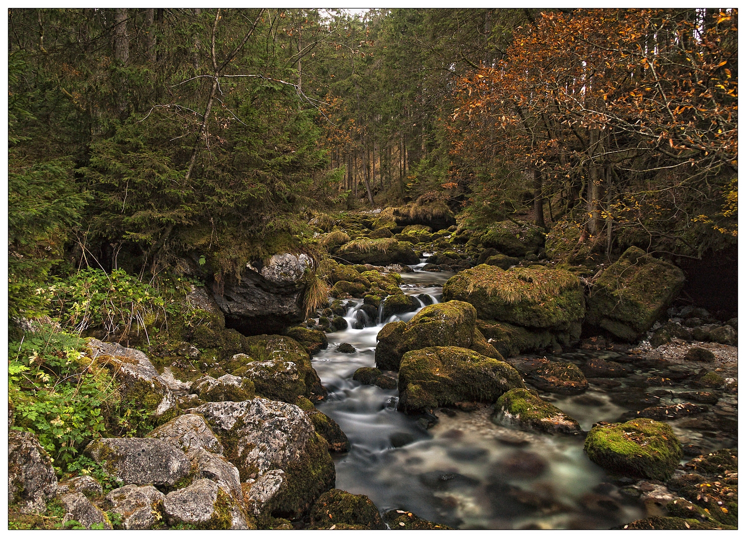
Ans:
POLYGON ((735 241, 737 69, 736 10, 542 14, 460 79, 456 178, 485 207, 520 178, 579 243, 698 257, 735 241))

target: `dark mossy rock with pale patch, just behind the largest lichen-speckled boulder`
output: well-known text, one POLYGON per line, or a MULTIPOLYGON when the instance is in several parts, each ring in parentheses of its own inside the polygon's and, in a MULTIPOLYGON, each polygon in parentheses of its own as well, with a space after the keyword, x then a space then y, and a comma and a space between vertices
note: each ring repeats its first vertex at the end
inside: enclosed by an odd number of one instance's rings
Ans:
POLYGON ((298 396, 311 400, 326 397, 327 390, 311 366, 310 355, 292 338, 276 334, 249 337, 248 349, 254 362, 232 373, 250 378, 257 395, 288 403, 294 403, 298 396))

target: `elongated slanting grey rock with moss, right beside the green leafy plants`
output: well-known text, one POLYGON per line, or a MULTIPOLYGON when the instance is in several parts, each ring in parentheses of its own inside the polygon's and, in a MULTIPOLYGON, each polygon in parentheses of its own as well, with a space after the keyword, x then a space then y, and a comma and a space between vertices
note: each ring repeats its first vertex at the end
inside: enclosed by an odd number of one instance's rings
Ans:
POLYGON ((155 422, 165 422, 178 414, 176 396, 142 351, 95 338, 87 342, 87 348, 91 357, 104 361, 122 384, 122 400, 131 407, 144 410, 155 422))

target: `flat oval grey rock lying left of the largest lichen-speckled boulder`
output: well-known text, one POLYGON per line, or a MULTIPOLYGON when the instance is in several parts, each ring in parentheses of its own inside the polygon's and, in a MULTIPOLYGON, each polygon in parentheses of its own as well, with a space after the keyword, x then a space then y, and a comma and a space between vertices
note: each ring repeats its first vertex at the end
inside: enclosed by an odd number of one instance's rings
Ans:
POLYGON ((98 439, 85 452, 124 485, 172 487, 192 470, 183 451, 160 439, 98 439))

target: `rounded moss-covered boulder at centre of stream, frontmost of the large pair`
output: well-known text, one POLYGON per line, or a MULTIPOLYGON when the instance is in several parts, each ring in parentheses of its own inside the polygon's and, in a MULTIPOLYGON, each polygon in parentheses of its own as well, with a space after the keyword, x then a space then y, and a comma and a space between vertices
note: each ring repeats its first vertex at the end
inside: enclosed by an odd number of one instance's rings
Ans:
POLYGON ((508 363, 455 346, 408 351, 399 368, 398 409, 420 413, 458 401, 495 401, 525 387, 508 363))

